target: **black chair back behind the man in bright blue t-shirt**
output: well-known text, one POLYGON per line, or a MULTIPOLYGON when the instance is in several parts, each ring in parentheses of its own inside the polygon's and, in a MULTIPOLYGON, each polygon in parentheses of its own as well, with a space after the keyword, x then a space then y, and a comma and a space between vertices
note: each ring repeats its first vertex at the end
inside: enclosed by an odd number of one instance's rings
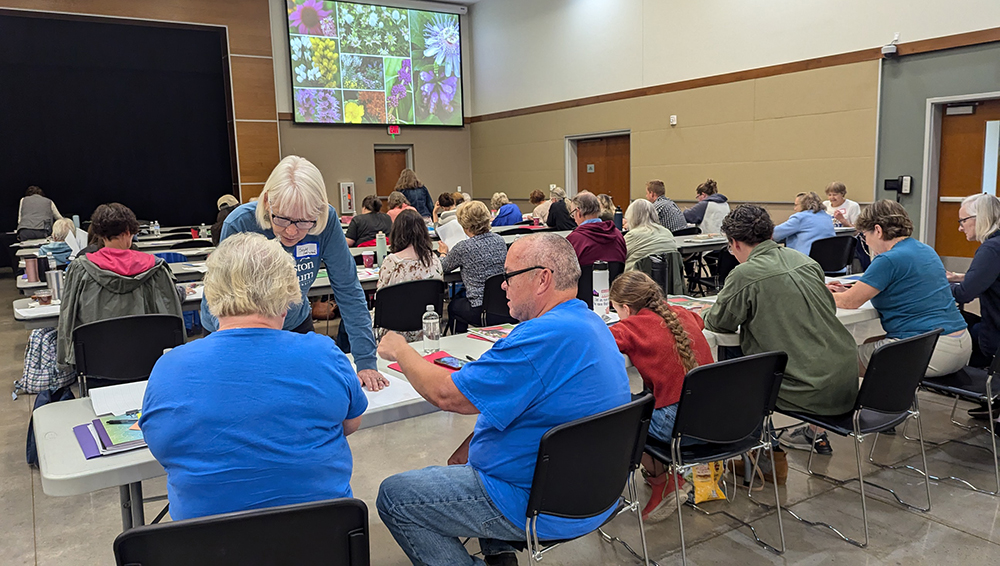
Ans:
POLYGON ((582 519, 614 505, 639 466, 654 402, 646 393, 542 435, 527 516, 582 519))

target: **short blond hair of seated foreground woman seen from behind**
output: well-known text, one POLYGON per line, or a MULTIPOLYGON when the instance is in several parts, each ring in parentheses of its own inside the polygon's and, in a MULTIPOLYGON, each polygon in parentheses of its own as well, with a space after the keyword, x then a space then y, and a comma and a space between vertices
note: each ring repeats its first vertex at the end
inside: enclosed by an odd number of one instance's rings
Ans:
POLYGON ((295 260, 277 240, 263 234, 241 232, 226 238, 205 266, 205 300, 216 318, 273 318, 302 302, 295 260))

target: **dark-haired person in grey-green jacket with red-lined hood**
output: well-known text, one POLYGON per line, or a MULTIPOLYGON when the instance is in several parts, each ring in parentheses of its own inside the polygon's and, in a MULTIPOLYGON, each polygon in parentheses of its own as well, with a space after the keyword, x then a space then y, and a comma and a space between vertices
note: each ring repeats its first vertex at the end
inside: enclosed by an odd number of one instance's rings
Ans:
POLYGON ((167 262, 131 249, 139 222, 127 206, 98 206, 90 230, 102 247, 81 251, 63 280, 56 356, 60 366, 76 364, 73 330, 81 324, 136 314, 183 314, 167 262))

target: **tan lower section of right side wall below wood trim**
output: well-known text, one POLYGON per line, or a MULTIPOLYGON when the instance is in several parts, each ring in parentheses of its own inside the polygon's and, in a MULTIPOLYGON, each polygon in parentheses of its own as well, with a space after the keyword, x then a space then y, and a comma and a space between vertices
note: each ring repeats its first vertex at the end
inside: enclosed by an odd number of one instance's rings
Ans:
POLYGON ((878 62, 864 62, 478 122, 471 125, 475 194, 525 199, 550 183, 563 186, 566 136, 629 130, 632 198, 660 178, 668 196, 691 199, 711 177, 734 201, 789 202, 840 180, 851 198, 867 202, 877 93, 878 62))

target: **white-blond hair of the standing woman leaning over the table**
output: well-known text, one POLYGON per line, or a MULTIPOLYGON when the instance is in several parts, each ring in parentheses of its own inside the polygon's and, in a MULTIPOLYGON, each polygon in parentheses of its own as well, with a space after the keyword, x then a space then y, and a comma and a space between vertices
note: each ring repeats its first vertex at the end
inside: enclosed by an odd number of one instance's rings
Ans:
POLYGON ((269 208, 279 216, 288 215, 293 220, 316 219, 316 225, 309 230, 312 235, 321 234, 326 229, 330 216, 330 201, 326 197, 326 183, 323 174, 308 159, 289 155, 278 162, 271 176, 264 183, 257 204, 257 224, 267 230, 271 228, 269 208), (267 206, 264 199, 267 199, 267 206))

